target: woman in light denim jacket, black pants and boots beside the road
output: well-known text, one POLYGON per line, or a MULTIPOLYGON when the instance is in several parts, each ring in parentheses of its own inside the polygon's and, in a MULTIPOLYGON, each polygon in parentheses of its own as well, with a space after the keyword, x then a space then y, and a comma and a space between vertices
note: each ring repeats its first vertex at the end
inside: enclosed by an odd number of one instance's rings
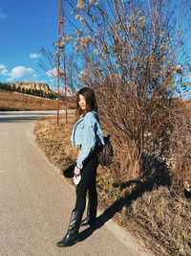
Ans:
POLYGON ((97 116, 96 97, 93 89, 85 87, 79 90, 76 102, 76 114, 80 117, 72 132, 72 144, 80 145, 74 175, 81 175, 76 185, 76 201, 71 221, 65 237, 56 245, 70 246, 79 242, 78 230, 81 225, 96 223, 96 169, 98 166, 96 145, 104 145, 103 134, 97 116), (86 194, 89 193, 87 218, 81 221, 86 206, 86 194))

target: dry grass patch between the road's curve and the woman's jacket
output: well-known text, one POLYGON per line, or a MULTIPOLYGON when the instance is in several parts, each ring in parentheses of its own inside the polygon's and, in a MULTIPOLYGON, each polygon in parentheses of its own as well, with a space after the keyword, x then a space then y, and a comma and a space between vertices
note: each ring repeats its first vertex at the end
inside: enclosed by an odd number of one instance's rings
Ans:
POLYGON ((51 117, 40 120, 34 128, 39 146, 60 170, 74 163, 77 157, 77 149, 71 146, 71 124, 74 124, 74 114, 68 115, 68 124, 60 115, 59 127, 56 117, 51 117))

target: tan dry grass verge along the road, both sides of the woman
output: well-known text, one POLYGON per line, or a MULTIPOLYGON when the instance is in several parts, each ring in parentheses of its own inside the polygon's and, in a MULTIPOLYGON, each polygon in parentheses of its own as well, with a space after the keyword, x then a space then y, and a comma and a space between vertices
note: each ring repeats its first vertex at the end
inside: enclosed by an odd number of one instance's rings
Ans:
MULTIPOLYGON (((74 115, 69 124, 56 126, 56 118, 36 123, 34 133, 39 146, 62 172, 77 157, 71 145, 74 115)), ((72 182, 68 179, 69 182, 72 182)), ((180 198, 167 187, 148 180, 126 180, 118 176, 115 165, 98 167, 99 208, 125 226, 138 241, 156 255, 191 255, 191 201, 180 198)))

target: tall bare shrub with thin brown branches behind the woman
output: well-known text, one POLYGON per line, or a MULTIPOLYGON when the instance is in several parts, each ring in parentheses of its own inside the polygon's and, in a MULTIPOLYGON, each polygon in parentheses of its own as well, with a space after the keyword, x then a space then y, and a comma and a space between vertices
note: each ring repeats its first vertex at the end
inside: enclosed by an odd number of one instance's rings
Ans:
MULTIPOLYGON (((180 1, 177 12, 171 1, 68 2, 81 24, 74 42, 82 59, 81 84, 96 90, 102 127, 116 149, 114 168, 136 179, 143 153, 169 162, 169 152, 174 158, 179 154, 172 142, 177 128, 182 145, 190 138, 185 113, 179 111, 182 103, 174 99, 189 91, 189 3, 180 1)), ((188 172, 189 158, 183 155, 177 162, 186 161, 186 168, 181 165, 188 172)), ((183 182, 175 182, 177 169, 170 172, 178 192, 183 182)))

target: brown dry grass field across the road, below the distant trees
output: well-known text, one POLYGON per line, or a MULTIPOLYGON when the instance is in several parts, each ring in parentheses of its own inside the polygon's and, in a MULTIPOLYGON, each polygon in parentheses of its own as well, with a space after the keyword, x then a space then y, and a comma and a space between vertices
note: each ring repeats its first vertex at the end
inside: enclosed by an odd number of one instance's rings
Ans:
MULTIPOLYGON (((70 108, 74 108, 74 103, 69 103, 70 108)), ((60 103, 60 109, 64 108, 64 103, 60 103)), ((0 89, 0 110, 55 110, 57 101, 35 97, 32 95, 11 92, 0 89)))

